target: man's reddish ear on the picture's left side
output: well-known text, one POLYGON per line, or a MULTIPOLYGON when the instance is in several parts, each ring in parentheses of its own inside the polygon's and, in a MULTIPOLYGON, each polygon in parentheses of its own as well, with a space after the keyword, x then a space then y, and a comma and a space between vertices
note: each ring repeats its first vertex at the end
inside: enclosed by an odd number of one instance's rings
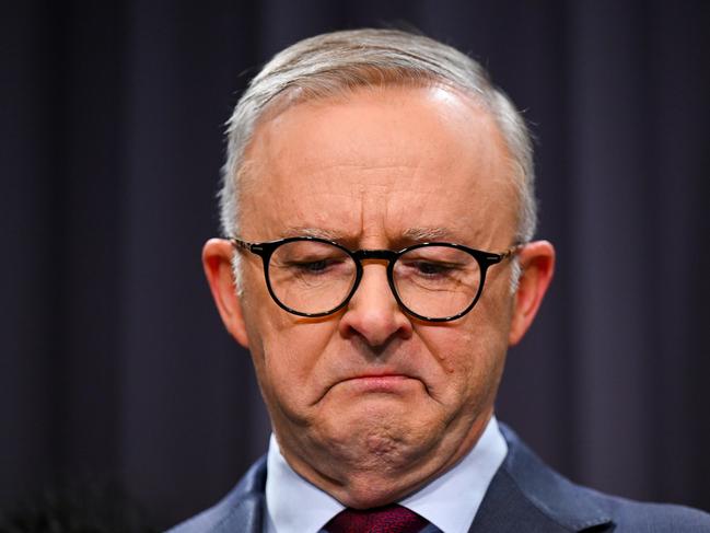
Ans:
POLYGON ((232 243, 224 239, 210 239, 202 248, 202 267, 212 291, 212 298, 228 332, 238 344, 248 348, 242 302, 236 294, 232 273, 232 243))

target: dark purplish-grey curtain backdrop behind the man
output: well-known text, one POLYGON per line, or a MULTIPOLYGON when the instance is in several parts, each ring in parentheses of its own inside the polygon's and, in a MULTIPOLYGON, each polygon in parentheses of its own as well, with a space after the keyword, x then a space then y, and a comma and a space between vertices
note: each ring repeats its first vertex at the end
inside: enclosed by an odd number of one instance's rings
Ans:
POLYGON ((558 274, 499 417, 577 482, 710 510, 710 3, 11 5, 0 508, 90 476, 166 526, 263 453, 248 356, 200 266, 223 123, 296 39, 411 24, 481 60, 539 139, 558 274))

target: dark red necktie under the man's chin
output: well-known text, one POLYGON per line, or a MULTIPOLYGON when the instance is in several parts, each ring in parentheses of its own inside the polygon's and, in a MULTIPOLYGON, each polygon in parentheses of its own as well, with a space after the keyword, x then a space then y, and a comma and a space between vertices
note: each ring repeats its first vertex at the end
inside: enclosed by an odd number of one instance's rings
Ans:
POLYGON ((328 533, 419 533, 429 522, 401 506, 346 509, 326 525, 328 533))

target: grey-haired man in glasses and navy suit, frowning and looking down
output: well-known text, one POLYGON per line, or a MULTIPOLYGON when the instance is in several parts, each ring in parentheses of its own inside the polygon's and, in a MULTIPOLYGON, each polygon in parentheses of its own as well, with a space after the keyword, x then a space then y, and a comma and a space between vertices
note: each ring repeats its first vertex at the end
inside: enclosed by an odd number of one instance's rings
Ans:
POLYGON ((493 416, 555 252, 532 241, 525 124, 479 65, 396 31, 303 40, 228 150, 203 264, 273 436, 174 531, 710 531, 572 485, 493 416))

